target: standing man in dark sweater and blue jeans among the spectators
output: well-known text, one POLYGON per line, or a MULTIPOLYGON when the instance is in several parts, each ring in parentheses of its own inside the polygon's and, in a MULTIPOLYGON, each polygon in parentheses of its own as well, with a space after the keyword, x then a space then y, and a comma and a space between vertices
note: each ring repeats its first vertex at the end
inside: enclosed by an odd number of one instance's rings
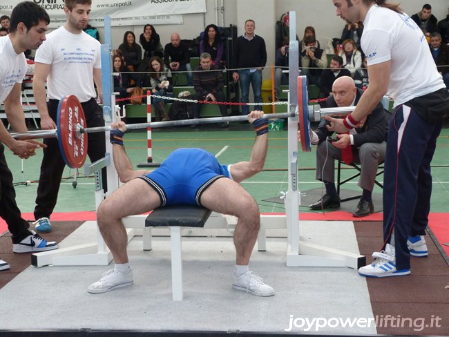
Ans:
MULTIPOLYGON (((238 68, 232 77, 240 81, 242 97, 240 102, 249 102, 249 84, 253 87, 254 102, 262 103, 262 68, 267 64, 267 48, 265 40, 254 34, 256 23, 249 19, 245 21, 245 34, 237 38, 236 51, 233 56, 233 66, 238 68)), ((262 110, 262 106, 255 106, 262 110)), ((242 106, 242 115, 248 115, 249 106, 242 106)))

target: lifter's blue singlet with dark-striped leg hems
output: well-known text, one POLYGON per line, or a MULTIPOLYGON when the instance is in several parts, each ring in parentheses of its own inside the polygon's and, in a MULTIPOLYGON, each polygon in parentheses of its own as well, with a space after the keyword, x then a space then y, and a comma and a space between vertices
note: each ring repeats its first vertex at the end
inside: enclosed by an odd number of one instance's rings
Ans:
POLYGON ((221 177, 230 177, 229 168, 202 148, 178 148, 155 171, 142 175, 160 196, 161 206, 198 204, 201 194, 221 177))

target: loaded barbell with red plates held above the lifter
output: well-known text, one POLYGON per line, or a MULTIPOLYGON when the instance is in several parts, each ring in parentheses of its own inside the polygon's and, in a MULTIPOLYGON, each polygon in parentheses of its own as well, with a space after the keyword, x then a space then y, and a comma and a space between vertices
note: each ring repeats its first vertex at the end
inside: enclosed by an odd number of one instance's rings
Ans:
MULTIPOLYGON (((314 108, 308 106, 307 83, 305 77, 298 77, 298 108, 294 113, 271 113, 265 114, 267 119, 278 119, 298 116, 300 126, 300 140, 303 151, 310 151, 310 119, 312 122, 321 119, 321 115, 332 115, 348 113, 354 110, 354 107, 347 108, 314 108), (319 118, 317 116, 320 116, 319 118)), ((242 122, 247 120, 246 115, 212 117, 202 119, 185 119, 166 122, 152 122, 126 125, 128 130, 151 128, 162 128, 169 126, 186 126, 199 124, 213 124, 222 122, 242 122)), ((74 95, 64 97, 59 101, 57 109, 56 129, 28 131, 26 133, 11 133, 15 139, 37 139, 37 138, 57 138, 59 150, 64 162, 70 168, 80 168, 86 162, 87 157, 87 134, 97 132, 111 131, 111 126, 99 126, 93 128, 86 127, 86 117, 81 103, 74 95)))

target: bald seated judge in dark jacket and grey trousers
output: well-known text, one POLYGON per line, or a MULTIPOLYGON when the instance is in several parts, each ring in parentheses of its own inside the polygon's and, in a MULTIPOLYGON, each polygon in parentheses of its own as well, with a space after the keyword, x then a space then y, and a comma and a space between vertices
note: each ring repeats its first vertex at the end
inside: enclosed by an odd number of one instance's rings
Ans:
MULTIPOLYGON (((332 94, 327 97, 327 108, 336 106, 356 106, 363 90, 357 89, 351 77, 343 76, 334 81, 332 94)), ((311 204, 310 209, 338 209, 340 197, 335 188, 335 160, 347 164, 361 164, 359 186, 363 189, 354 217, 363 217, 374 212, 372 190, 376 179, 377 166, 385 157, 388 131, 388 111, 382 104, 377 104, 370 115, 363 119, 350 134, 337 134, 332 139, 333 131, 328 131, 329 122, 322 119, 321 124, 312 131, 312 144, 316 149, 316 179, 325 184, 326 193, 311 204)))

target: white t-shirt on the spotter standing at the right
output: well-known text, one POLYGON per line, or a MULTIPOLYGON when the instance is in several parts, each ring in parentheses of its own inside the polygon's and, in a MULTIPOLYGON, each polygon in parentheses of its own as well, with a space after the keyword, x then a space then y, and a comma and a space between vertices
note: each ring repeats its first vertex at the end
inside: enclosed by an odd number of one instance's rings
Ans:
POLYGON ((394 106, 446 88, 423 32, 405 13, 374 5, 363 21, 368 66, 391 60, 388 95, 394 106))

